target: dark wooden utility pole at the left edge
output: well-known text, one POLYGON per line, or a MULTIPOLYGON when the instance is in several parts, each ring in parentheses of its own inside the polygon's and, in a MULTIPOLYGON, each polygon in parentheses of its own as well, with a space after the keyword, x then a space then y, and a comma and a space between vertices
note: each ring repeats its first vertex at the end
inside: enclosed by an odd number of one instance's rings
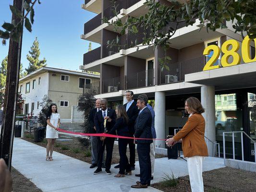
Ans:
MULTIPOLYGON (((23 12, 24 15, 23 3, 24 0, 13 0, 13 6, 15 6, 20 12, 23 12)), ((15 22, 15 24, 17 24, 20 21, 21 19, 19 17, 12 14, 12 22, 15 22)), ((0 135, 0 157, 5 160, 9 170, 11 170, 12 163, 13 129, 16 115, 16 100, 20 73, 21 45, 22 35, 18 43, 14 42, 12 38, 10 38, 3 106, 3 124, 0 135)))

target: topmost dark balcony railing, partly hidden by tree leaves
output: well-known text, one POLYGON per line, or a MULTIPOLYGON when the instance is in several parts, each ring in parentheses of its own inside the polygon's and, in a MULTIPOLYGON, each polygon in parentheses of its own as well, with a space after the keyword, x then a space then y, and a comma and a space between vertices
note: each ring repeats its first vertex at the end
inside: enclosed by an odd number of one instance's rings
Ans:
MULTIPOLYGON (((117 0, 116 1, 116 11, 117 14, 120 13, 121 9, 127 9, 129 7, 131 7, 132 5, 134 5, 135 3, 139 2, 140 0, 117 0)), ((103 11, 103 16, 107 17, 109 20, 111 18, 113 18, 115 16, 114 12, 113 12, 114 6, 111 5, 110 7, 106 8, 103 11)))

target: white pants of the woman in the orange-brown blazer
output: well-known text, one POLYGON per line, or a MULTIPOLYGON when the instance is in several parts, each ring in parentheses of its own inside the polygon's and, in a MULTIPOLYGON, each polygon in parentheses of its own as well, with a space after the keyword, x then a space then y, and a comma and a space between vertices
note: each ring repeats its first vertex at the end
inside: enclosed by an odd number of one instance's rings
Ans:
POLYGON ((204 156, 187 157, 187 167, 192 192, 204 192, 203 161, 204 156))

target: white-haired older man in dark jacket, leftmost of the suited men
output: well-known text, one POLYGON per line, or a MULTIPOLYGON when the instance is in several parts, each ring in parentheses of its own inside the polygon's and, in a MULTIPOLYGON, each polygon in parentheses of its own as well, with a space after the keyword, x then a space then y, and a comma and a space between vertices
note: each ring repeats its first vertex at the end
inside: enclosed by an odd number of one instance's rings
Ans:
MULTIPOLYGON (((90 133, 96 133, 96 127, 94 124, 95 114, 101 110, 100 108, 100 99, 97 99, 95 102, 96 108, 93 108, 89 114, 89 124, 90 124, 90 133)), ((98 151, 97 151, 97 144, 98 144, 98 137, 91 136, 91 147, 92 147, 92 165, 90 168, 97 167, 97 158, 98 158, 98 151)))

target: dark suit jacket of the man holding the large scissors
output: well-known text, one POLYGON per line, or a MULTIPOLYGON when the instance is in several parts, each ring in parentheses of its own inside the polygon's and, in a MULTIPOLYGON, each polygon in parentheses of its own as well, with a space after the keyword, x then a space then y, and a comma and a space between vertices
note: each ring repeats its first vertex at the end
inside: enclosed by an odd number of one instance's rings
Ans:
MULTIPOLYGON (((107 121, 106 129, 108 131, 110 131, 112 129, 112 127, 114 126, 115 121, 116 121, 116 112, 113 109, 108 108, 107 116, 110 117, 111 122, 107 121)), ((98 111, 95 114, 94 124, 95 124, 96 132, 97 133, 103 133, 105 131, 105 129, 104 129, 104 119, 103 119, 102 111, 101 110, 98 111)))

